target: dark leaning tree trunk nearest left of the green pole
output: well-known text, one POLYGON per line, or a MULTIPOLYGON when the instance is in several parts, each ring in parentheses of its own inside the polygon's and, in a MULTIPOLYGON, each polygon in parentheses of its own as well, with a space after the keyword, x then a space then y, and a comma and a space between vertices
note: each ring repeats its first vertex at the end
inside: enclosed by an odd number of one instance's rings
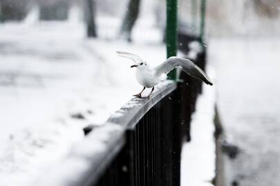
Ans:
POLYGON ((131 41, 131 31, 139 13, 140 0, 129 0, 127 12, 120 28, 120 37, 131 41))

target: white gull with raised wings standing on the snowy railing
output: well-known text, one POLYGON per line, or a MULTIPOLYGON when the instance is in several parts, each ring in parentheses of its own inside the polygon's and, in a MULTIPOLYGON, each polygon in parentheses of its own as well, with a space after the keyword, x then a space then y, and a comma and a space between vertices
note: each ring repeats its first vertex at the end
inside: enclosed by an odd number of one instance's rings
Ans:
POLYGON ((136 68, 136 79, 140 85, 144 88, 136 95, 138 98, 142 98, 141 94, 146 88, 152 88, 149 96, 154 90, 154 86, 160 83, 163 74, 167 74, 174 68, 182 68, 183 71, 187 72, 190 76, 204 81, 207 85, 213 85, 207 74, 203 72, 194 62, 189 59, 183 59, 177 56, 171 56, 169 59, 161 63, 160 65, 152 68, 145 61, 143 61, 140 56, 136 54, 131 54, 129 52, 117 51, 117 54, 122 57, 126 57, 134 61, 134 65, 131 68, 136 68))

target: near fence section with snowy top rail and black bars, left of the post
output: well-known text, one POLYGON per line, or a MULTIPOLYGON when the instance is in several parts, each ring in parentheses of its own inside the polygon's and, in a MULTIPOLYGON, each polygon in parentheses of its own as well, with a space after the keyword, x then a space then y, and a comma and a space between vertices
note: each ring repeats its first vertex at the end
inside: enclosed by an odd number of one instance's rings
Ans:
POLYGON ((171 167, 169 158, 174 156, 171 141, 165 139, 170 138, 168 127, 178 114, 171 109, 176 104, 176 87, 165 81, 151 99, 129 101, 73 147, 40 185, 147 185, 151 178, 162 185, 163 178, 171 181, 171 174, 163 170, 171 167))

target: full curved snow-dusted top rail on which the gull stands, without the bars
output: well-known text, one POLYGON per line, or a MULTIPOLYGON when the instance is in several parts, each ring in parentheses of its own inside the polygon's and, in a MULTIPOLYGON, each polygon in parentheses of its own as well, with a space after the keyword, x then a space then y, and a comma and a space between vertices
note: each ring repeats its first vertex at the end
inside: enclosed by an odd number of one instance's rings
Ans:
POLYGON ((96 183, 127 143, 125 135, 127 130, 134 130, 144 114, 174 90, 176 90, 176 83, 164 81, 156 87, 151 99, 131 99, 104 125, 95 128, 83 141, 77 143, 66 160, 55 169, 50 168, 47 176, 39 178, 36 183, 53 186, 96 183))

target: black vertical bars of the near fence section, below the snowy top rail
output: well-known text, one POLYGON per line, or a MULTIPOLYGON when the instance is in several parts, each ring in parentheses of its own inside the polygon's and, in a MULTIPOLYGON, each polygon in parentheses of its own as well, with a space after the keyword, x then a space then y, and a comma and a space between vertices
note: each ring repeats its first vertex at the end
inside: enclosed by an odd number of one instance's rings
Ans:
POLYGON ((122 151, 97 185, 178 185, 180 112, 172 108, 179 104, 174 90, 133 123, 125 134, 127 140, 122 151))

